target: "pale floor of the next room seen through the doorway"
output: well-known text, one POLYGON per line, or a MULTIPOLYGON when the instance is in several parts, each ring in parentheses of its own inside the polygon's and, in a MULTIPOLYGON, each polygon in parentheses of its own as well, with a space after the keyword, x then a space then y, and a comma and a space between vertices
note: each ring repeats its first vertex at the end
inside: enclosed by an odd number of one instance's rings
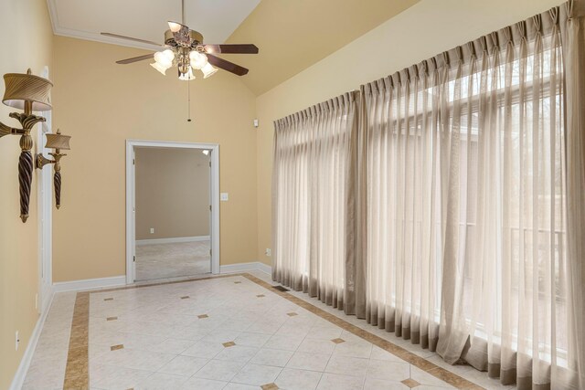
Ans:
POLYGON ((211 272, 209 241, 136 246, 136 281, 179 278, 211 272))

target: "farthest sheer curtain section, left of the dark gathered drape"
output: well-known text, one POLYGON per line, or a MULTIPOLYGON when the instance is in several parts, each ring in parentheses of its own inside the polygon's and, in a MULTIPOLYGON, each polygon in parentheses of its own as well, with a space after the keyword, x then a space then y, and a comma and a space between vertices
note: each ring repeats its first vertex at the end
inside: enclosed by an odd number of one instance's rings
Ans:
POLYGON ((345 258, 355 112, 347 93, 275 122, 273 279, 339 308, 354 289, 345 258))

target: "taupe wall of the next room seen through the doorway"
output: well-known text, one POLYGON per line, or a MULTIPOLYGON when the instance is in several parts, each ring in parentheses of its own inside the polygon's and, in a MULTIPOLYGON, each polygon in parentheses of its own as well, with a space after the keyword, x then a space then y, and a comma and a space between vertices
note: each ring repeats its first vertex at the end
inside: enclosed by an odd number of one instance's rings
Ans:
POLYGON ((209 156, 137 148, 135 160, 136 239, 209 236, 209 156))

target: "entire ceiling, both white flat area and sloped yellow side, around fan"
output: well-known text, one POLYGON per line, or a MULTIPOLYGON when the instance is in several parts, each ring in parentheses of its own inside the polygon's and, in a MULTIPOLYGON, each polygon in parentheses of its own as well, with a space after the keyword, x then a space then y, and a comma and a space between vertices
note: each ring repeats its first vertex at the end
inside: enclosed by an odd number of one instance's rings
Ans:
MULTIPOLYGON (((206 43, 253 43, 259 55, 224 55, 250 69, 257 95, 290 79, 419 0, 186 0, 186 25, 206 43)), ((55 34, 153 49, 100 32, 163 41, 180 0, 48 0, 55 34)), ((367 53, 356 53, 367 61, 367 53)), ((144 66, 137 63, 129 66, 144 66)))

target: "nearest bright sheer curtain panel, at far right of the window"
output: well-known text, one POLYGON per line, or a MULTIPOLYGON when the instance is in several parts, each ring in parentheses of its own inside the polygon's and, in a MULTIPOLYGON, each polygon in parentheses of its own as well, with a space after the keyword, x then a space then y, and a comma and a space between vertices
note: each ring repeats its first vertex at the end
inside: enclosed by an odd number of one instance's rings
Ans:
POLYGON ((558 22, 551 12, 507 27, 441 75, 437 350, 519 388, 570 384, 558 22))

